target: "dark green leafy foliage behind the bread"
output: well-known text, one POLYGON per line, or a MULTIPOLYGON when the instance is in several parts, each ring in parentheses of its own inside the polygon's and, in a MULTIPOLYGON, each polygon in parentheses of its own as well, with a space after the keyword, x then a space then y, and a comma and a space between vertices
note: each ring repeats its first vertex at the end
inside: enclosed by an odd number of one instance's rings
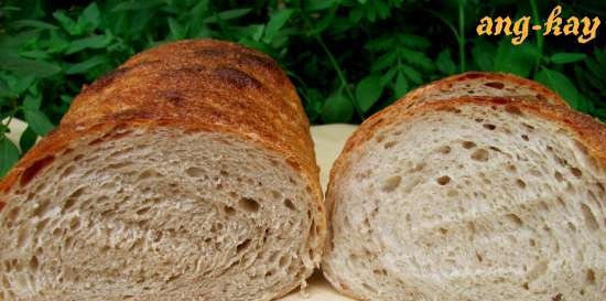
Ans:
POLYGON ((313 123, 360 122, 408 90, 464 71, 534 78, 575 109, 606 120, 606 46, 598 37, 532 31, 477 36, 485 15, 599 17, 606 1, 511 0, 108 0, 0 3, 0 176, 58 123, 84 84, 159 43, 231 40, 273 56, 313 123), (29 125, 19 146, 6 125, 29 125))

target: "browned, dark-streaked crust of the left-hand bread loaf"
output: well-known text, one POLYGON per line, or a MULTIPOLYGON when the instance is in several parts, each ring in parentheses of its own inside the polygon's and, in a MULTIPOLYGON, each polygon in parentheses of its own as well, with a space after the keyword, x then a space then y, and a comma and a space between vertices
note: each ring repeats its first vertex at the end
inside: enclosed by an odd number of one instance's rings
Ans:
POLYGON ((271 57, 229 42, 161 45, 83 87, 59 126, 0 182, 0 209, 10 202, 9 191, 22 193, 55 155, 131 128, 225 132, 279 153, 302 175, 314 200, 309 206, 320 236, 316 252, 322 254, 323 193, 301 100, 271 57), (91 137, 97 139, 90 142, 91 137))

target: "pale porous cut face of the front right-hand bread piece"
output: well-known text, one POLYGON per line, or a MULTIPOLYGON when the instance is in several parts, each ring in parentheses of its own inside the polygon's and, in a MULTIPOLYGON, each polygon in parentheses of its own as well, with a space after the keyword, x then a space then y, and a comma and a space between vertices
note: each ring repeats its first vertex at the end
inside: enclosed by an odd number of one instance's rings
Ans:
POLYGON ((416 112, 336 174, 323 269, 361 300, 602 301, 606 171, 555 122, 416 112))

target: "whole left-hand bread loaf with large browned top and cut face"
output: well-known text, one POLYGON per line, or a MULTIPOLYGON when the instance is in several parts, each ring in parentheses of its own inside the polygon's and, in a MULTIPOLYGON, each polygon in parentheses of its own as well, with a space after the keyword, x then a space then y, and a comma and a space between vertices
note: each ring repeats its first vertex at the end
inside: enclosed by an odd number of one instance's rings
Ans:
POLYGON ((84 87, 0 207, 0 300, 270 300, 312 273, 326 232, 292 84, 209 40, 84 87))

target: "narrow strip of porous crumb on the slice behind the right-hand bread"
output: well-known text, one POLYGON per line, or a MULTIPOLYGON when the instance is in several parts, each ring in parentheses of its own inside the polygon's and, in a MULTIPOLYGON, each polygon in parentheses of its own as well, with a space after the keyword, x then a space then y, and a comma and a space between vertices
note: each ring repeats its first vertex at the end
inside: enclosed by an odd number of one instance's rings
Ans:
POLYGON ((462 96, 490 96, 490 97, 520 97, 530 100, 548 101, 559 105, 560 101, 547 98, 544 93, 537 92, 535 87, 524 82, 499 80, 493 77, 474 77, 465 80, 452 80, 447 84, 436 82, 428 87, 421 87, 414 94, 414 101, 436 101, 462 96))

